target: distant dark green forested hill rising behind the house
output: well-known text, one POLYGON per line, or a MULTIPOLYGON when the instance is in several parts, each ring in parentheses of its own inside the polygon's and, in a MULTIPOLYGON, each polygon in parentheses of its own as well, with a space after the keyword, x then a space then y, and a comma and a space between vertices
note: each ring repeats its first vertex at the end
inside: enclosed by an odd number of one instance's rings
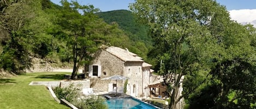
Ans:
POLYGON ((152 46, 152 39, 147 35, 147 27, 136 23, 131 11, 114 10, 98 12, 97 15, 103 18, 106 23, 116 22, 131 40, 144 42, 146 46, 152 46))

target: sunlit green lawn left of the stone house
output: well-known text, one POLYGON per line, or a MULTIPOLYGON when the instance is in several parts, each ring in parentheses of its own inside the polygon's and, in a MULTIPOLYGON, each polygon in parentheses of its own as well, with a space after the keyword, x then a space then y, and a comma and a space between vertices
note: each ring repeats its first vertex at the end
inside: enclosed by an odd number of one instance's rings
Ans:
POLYGON ((1 108, 68 108, 58 104, 45 86, 29 86, 31 81, 57 81, 70 73, 27 73, 0 79, 1 108))

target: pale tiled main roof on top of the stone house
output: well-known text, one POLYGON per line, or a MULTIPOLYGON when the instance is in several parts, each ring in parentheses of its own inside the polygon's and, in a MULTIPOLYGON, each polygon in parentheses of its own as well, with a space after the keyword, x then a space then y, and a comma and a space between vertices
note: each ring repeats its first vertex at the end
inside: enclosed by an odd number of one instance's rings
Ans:
POLYGON ((119 59, 123 60, 123 61, 135 61, 135 62, 144 62, 144 60, 141 60, 137 56, 136 54, 129 52, 128 50, 124 50, 122 48, 118 48, 118 47, 109 47, 106 49, 107 52, 111 53, 112 55, 115 55, 116 57, 118 57, 119 59))

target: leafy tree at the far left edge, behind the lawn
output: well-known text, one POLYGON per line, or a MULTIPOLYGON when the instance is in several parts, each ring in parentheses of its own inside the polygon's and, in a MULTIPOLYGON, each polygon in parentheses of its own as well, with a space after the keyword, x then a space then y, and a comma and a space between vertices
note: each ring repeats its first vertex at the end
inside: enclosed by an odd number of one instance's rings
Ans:
POLYGON ((1 30, 8 32, 6 36, 1 36, 4 47, 0 60, 3 69, 20 74, 32 66, 25 40, 31 34, 24 27, 35 17, 38 3, 40 2, 1 1, 0 26, 1 30))

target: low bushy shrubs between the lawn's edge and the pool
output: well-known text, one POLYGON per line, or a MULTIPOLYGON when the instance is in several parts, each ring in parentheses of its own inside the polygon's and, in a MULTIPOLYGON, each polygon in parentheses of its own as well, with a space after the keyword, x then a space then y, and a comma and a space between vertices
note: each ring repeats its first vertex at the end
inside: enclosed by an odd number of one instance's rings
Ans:
POLYGON ((64 88, 59 86, 54 87, 53 91, 58 99, 66 99, 80 109, 93 109, 95 107, 100 109, 108 108, 108 106, 104 103, 104 98, 94 95, 84 96, 81 94, 80 89, 73 84, 70 84, 68 87, 64 88))

